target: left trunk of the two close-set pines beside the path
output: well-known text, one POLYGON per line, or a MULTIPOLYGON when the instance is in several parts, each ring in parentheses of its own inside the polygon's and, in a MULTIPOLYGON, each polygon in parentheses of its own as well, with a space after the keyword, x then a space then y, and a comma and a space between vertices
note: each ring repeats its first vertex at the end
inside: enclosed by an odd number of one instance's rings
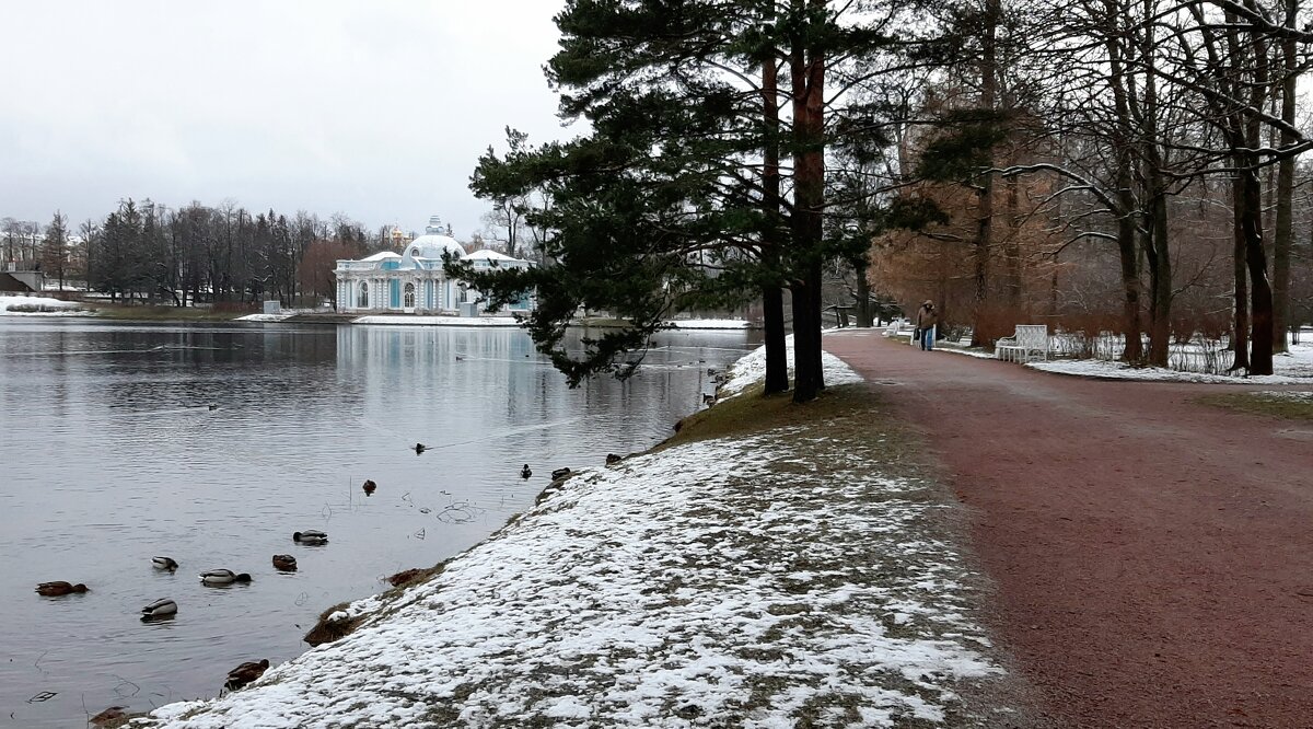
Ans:
POLYGON ((762 114, 765 121, 763 208, 767 227, 762 259, 773 280, 762 285, 762 319, 765 326, 765 394, 789 389, 789 355, 784 336, 784 290, 780 288, 780 96, 779 66, 773 56, 762 60, 762 114))

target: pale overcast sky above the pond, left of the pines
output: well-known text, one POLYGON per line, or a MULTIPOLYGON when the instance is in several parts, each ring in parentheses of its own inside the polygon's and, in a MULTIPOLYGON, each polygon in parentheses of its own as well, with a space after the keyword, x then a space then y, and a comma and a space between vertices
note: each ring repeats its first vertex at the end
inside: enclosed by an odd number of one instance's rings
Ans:
POLYGON ((347 213, 466 239, 503 129, 572 135, 542 64, 563 0, 0 3, 0 217, 125 197, 347 213))

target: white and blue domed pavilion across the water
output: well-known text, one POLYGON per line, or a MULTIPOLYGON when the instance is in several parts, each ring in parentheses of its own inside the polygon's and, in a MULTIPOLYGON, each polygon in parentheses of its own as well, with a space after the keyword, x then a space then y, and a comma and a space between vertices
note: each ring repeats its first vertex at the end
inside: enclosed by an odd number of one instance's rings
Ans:
MULTIPOLYGON (((496 251, 466 254, 454 238, 441 234, 437 217, 429 218, 424 235, 410 242, 403 254, 382 251, 361 260, 339 260, 337 311, 404 313, 404 314, 470 314, 483 310, 479 292, 462 281, 446 277, 442 254, 466 260, 475 269, 528 268, 529 261, 512 259, 496 251), (462 306, 466 305, 466 306, 462 306), (463 309, 463 311, 462 311, 463 309)), ((528 311, 529 296, 498 313, 528 311)))

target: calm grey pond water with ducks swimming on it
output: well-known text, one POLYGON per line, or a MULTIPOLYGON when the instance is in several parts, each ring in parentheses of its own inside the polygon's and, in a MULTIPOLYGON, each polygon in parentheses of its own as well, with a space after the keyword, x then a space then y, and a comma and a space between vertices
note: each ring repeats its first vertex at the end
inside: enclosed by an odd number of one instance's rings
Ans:
POLYGON ((324 608, 478 542, 553 469, 668 436, 758 340, 668 332, 628 382, 570 390, 513 328, 0 318, 0 726, 214 696, 298 655, 324 608), (253 581, 202 586, 217 567, 253 581), (142 623, 165 596, 177 616, 142 623))

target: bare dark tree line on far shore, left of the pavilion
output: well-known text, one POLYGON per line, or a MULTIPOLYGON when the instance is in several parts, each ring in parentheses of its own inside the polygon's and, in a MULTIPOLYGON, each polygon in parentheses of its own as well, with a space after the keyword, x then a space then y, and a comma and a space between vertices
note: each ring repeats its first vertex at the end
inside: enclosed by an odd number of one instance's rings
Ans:
POLYGON ((3 259, 38 267, 60 289, 76 281, 112 301, 176 306, 336 303, 336 261, 395 244, 391 226, 366 230, 343 214, 252 214, 231 202, 173 209, 125 200, 104 219, 76 227, 58 211, 45 226, 0 221, 3 259))

